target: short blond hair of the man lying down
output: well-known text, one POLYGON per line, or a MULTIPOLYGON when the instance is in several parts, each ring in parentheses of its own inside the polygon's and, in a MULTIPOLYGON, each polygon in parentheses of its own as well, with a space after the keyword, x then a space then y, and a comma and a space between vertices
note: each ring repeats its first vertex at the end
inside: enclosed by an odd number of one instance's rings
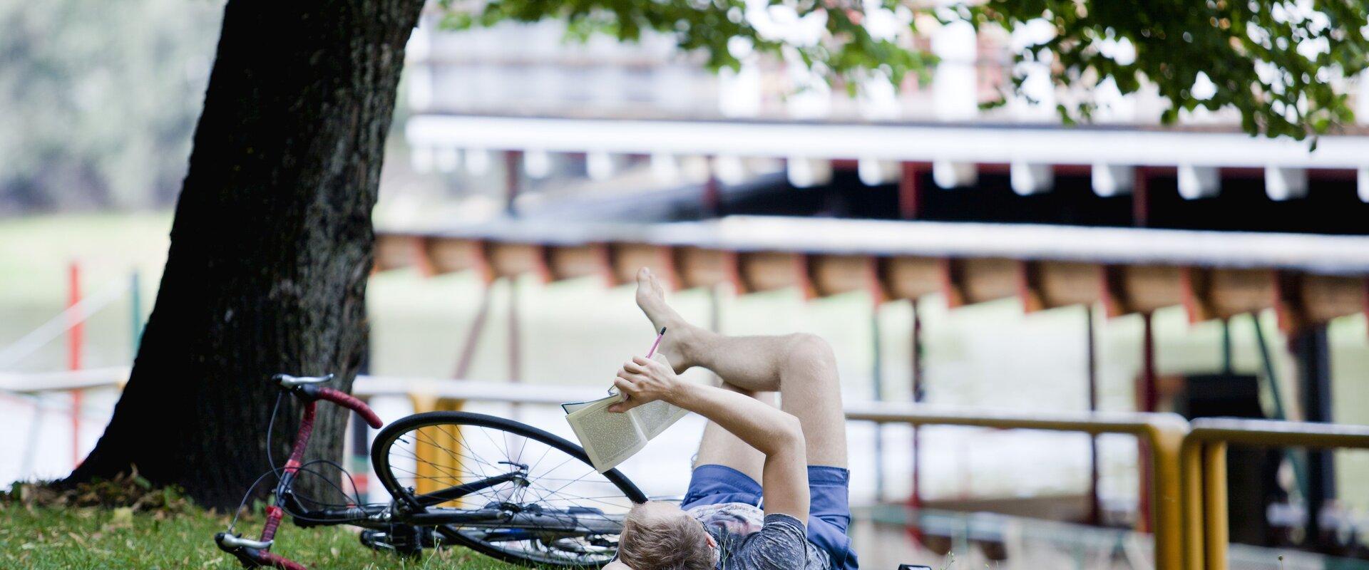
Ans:
POLYGON ((617 559, 632 570, 713 570, 713 547, 693 517, 660 517, 637 504, 623 519, 617 559))

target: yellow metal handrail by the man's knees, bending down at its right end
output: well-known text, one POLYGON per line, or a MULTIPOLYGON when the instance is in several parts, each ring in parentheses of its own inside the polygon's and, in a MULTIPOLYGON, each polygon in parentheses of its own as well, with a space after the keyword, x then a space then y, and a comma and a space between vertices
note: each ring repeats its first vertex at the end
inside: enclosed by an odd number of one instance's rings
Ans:
POLYGON ((1014 413, 993 410, 957 410, 895 402, 858 402, 846 406, 846 418, 879 424, 965 425, 999 429, 1043 429, 1083 433, 1129 433, 1149 443, 1151 454, 1151 492, 1155 510, 1155 567, 1179 569, 1183 565, 1180 530, 1179 451, 1188 433, 1188 422, 1172 413, 1112 411, 1042 411, 1014 413))

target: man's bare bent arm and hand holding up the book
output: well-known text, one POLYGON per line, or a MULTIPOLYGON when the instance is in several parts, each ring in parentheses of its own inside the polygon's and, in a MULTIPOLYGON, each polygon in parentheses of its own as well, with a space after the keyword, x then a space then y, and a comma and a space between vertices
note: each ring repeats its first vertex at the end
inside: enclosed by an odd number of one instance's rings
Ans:
POLYGON ((627 401, 609 406, 609 411, 663 399, 712 420, 760 450, 765 454, 765 514, 782 513, 808 522, 808 457, 798 418, 742 394, 682 381, 669 364, 642 357, 626 362, 613 385, 627 401))

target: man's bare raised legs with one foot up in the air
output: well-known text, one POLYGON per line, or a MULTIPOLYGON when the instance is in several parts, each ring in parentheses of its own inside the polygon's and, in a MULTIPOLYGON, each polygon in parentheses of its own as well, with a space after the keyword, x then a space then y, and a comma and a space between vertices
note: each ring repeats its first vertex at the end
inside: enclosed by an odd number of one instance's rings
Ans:
MULTIPOLYGON (((730 384, 741 392, 778 391, 780 407, 798 417, 804 426, 808 465, 846 467, 846 417, 842 411, 842 391, 836 377, 836 361, 826 340, 804 334, 723 336, 695 327, 665 305, 665 290, 646 269, 637 275, 637 305, 654 327, 667 328, 660 350, 665 353, 676 372, 704 366, 721 376, 724 387, 730 384)), ((709 458, 737 457, 739 465, 747 466, 750 459, 731 452, 732 442, 716 432, 731 436, 716 425, 705 428, 704 443, 713 444, 700 448, 700 463, 705 463, 708 452, 709 458), (712 439, 711 429, 715 432, 712 439)), ((742 447, 750 447, 735 436, 731 439, 742 447)), ((760 457, 758 451, 756 457, 760 457)), ((741 467, 738 470, 752 474, 741 467)), ((754 473, 758 481, 758 466, 754 473)))

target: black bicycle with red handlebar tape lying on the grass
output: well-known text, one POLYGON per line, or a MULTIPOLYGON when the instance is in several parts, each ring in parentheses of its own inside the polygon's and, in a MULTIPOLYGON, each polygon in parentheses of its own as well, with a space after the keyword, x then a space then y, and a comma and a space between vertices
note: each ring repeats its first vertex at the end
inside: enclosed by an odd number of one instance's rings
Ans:
POLYGON ((234 533, 237 517, 227 532, 214 537, 219 549, 235 556, 244 567, 305 570, 271 552, 286 514, 301 528, 360 526, 361 544, 400 555, 463 545, 523 566, 601 567, 617 552, 627 510, 646 502, 642 491, 616 469, 596 472, 579 446, 517 421, 465 411, 412 414, 381 429, 371 444, 371 465, 390 495, 387 503, 364 504, 355 498, 330 504, 301 496, 294 483, 301 473, 320 476, 314 465, 331 465, 346 473, 331 461, 303 461, 318 401, 348 407, 372 428, 382 425, 364 402, 322 385, 331 379, 333 375, 272 377, 281 395, 267 440, 285 395, 304 402, 304 416, 285 466, 275 467, 268 452, 271 472, 246 491, 251 496, 257 484, 278 476, 260 539, 234 533), (481 452, 493 455, 482 458, 481 452))

